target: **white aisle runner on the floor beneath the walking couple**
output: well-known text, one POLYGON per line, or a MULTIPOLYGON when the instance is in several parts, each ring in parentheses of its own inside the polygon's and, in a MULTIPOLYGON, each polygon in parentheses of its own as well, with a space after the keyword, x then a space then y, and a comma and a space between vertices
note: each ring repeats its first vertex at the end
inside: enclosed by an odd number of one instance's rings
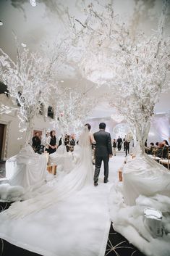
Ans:
MULTIPOLYGON (((0 237, 45 256, 103 256, 109 236, 109 191, 117 179, 122 156, 110 161, 109 183, 72 194, 64 202, 22 219, 0 218, 0 237)), ((57 195, 56 195, 57 197, 57 195)))

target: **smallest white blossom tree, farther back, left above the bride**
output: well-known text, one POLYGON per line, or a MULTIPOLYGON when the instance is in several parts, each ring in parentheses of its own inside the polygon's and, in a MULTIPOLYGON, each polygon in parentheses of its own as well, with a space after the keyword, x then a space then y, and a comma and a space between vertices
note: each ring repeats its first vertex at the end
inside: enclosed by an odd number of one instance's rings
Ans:
POLYGON ((97 101, 82 88, 61 88, 60 93, 54 95, 52 104, 61 133, 79 134, 97 101))

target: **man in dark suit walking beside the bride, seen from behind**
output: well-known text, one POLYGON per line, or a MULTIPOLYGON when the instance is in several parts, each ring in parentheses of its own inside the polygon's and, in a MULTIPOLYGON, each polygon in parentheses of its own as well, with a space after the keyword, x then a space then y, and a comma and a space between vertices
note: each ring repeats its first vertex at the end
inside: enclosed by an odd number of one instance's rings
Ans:
POLYGON ((104 183, 108 182, 109 176, 109 157, 112 157, 111 135, 105 131, 106 123, 100 123, 97 133, 94 133, 96 141, 95 148, 95 175, 94 186, 98 186, 98 176, 101 170, 101 162, 104 163, 104 183))

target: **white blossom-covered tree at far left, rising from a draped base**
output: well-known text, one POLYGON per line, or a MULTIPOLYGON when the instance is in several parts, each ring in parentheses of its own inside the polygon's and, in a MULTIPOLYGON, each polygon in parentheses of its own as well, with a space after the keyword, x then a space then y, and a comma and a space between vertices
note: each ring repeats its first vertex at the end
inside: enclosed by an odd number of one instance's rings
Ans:
MULTIPOLYGON (((33 117, 39 112, 41 104, 49 102, 54 88, 50 61, 40 53, 30 53, 28 49, 17 46, 17 62, 0 49, 0 78, 7 85, 8 94, 17 108, 20 118, 20 131, 26 131, 26 144, 33 131, 33 117)), ((1 108, 2 112, 9 109, 1 108)), ((12 109, 11 109, 12 110, 12 109)), ((16 107, 14 107, 16 110, 16 107)))

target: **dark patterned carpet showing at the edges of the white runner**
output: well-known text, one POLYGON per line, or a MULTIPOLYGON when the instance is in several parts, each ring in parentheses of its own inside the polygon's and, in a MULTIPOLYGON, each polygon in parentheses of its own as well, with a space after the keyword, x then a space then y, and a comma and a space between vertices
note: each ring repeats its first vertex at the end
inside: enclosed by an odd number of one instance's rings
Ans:
MULTIPOLYGON (((9 206, 9 202, 0 202, 0 212, 1 210, 6 210, 9 206)), ((9 242, 0 239, 0 256, 38 256, 38 254, 16 247, 13 244, 9 244, 9 242)), ((139 252, 132 244, 129 244, 127 239, 125 239, 121 234, 114 231, 114 228, 111 225, 105 256, 145 255, 139 252)))

